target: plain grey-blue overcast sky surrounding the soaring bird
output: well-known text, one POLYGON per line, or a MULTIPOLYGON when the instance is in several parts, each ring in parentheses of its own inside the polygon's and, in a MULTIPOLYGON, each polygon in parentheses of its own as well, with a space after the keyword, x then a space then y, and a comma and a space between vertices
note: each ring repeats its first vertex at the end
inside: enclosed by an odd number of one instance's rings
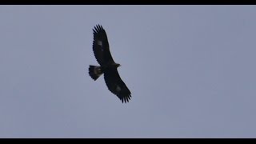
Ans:
POLYGON ((0 138, 256 138, 256 6, 0 6, 0 138), (132 98, 89 65, 93 28, 132 98))

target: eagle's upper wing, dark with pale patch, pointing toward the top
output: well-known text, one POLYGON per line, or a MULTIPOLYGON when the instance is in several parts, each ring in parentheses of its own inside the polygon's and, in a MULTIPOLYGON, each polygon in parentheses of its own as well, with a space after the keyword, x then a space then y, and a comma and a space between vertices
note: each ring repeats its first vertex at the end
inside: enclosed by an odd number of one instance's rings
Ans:
POLYGON ((114 62, 110 54, 110 46, 107 40, 106 31, 102 26, 94 26, 94 43, 93 43, 94 56, 101 66, 109 62, 114 62))

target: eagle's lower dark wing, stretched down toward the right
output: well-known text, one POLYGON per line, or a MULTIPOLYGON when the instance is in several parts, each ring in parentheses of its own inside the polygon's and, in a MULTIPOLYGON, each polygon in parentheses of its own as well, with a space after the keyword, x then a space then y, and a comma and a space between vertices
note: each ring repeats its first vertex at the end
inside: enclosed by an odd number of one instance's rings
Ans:
POLYGON ((105 70, 104 78, 106 86, 113 94, 117 95, 122 102, 129 102, 131 98, 130 90, 126 84, 122 82, 116 68, 105 70))

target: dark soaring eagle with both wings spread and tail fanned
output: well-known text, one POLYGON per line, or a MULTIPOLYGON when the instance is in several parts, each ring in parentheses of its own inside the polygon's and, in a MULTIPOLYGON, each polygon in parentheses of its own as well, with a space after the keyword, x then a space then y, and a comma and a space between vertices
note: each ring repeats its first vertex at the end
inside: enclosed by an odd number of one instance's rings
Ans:
POLYGON ((118 74, 118 67, 121 65, 114 62, 114 59, 110 54, 110 46, 107 40, 106 31, 101 25, 96 25, 94 26, 93 32, 94 56, 100 66, 89 66, 90 77, 96 81, 102 74, 104 74, 108 90, 115 94, 122 103, 129 102, 131 93, 118 74))

